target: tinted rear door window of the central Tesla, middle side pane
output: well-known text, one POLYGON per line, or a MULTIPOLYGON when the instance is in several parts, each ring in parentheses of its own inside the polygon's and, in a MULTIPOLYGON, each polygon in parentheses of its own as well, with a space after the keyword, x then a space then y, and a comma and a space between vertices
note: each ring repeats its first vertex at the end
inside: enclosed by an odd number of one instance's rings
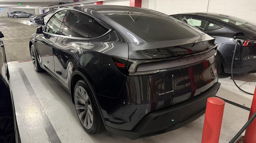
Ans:
POLYGON ((65 21, 62 35, 72 37, 89 37, 93 18, 84 13, 70 10, 65 21))

